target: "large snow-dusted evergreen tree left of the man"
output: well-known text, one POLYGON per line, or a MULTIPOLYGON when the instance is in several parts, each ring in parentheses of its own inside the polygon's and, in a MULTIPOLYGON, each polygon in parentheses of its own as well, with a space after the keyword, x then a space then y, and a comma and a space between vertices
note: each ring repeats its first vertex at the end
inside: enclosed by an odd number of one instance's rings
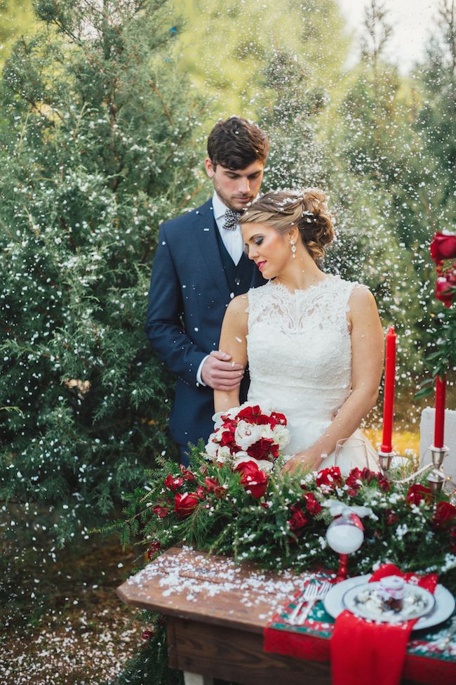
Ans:
POLYGON ((198 190, 201 103, 167 0, 38 0, 1 84, 0 497, 60 535, 112 516, 167 449, 145 338, 160 221, 198 190))

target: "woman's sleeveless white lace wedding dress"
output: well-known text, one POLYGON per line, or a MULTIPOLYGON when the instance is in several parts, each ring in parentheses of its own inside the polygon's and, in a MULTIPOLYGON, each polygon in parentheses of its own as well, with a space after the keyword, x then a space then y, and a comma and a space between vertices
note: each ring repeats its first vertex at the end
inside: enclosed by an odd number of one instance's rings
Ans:
MULTIPOLYGON (((248 292, 248 403, 269 405, 288 419, 289 455, 307 450, 328 429, 351 392, 351 337, 347 312, 358 283, 328 275, 306 290, 290 292, 269 281, 248 292)), ((349 436, 344 436, 349 437, 349 436)), ((369 468, 378 471, 366 443, 369 468)), ((321 468, 333 466, 334 453, 321 468)), ((342 473, 366 467, 355 452, 337 459, 342 473)))

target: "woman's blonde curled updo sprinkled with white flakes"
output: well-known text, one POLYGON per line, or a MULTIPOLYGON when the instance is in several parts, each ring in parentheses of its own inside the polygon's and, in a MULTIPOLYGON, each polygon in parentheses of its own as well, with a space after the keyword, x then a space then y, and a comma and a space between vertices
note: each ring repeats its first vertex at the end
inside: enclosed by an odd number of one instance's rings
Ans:
POLYGON ((266 193, 250 204, 239 223, 266 223, 282 234, 297 226, 313 259, 324 256, 325 245, 332 242, 335 235, 326 197, 318 188, 266 193))

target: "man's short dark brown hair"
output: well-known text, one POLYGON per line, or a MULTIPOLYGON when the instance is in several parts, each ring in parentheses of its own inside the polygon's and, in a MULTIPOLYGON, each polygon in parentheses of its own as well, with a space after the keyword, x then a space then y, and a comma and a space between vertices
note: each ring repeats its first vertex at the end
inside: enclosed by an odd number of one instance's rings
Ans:
POLYGON ((266 162, 269 140, 260 126, 242 117, 219 121, 209 133, 208 156, 225 169, 246 169, 257 159, 266 162))

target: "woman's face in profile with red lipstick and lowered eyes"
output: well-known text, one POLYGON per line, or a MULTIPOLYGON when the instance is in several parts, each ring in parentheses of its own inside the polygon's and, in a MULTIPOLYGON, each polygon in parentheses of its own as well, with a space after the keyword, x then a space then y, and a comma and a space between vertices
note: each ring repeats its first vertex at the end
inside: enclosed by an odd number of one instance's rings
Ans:
POLYGON ((266 223, 243 223, 242 235, 248 259, 255 262, 263 277, 279 275, 292 255, 288 235, 266 223))

